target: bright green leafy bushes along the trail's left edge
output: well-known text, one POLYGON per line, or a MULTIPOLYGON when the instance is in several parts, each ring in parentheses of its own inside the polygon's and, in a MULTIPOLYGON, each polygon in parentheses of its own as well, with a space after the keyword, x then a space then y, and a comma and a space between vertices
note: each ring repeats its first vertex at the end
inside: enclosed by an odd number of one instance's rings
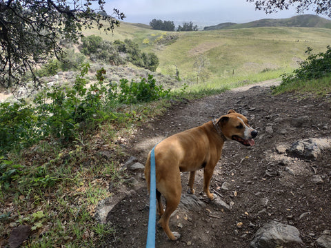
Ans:
POLYGON ((83 66, 72 87, 54 85, 39 92, 33 106, 24 101, 1 103, 0 155, 29 147, 46 137, 70 141, 79 132, 93 130, 106 120, 125 122, 129 117, 126 113, 114 112, 113 106, 154 101, 170 95, 170 90, 156 85, 152 75, 140 82, 128 83, 122 79, 119 85, 110 83, 106 87, 103 68, 97 72, 97 83, 87 87, 85 76, 89 68, 89 65, 83 66))

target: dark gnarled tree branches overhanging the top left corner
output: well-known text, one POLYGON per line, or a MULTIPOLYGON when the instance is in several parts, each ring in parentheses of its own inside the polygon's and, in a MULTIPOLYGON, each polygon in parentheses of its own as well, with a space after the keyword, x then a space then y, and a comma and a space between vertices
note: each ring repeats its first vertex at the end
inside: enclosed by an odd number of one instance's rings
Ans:
POLYGON ((106 1, 94 1, 0 0, 0 85, 25 85, 22 78, 31 72, 36 87, 34 69, 49 56, 63 57, 61 41, 78 41, 82 28, 112 31, 125 18, 117 9, 105 15, 106 1))

